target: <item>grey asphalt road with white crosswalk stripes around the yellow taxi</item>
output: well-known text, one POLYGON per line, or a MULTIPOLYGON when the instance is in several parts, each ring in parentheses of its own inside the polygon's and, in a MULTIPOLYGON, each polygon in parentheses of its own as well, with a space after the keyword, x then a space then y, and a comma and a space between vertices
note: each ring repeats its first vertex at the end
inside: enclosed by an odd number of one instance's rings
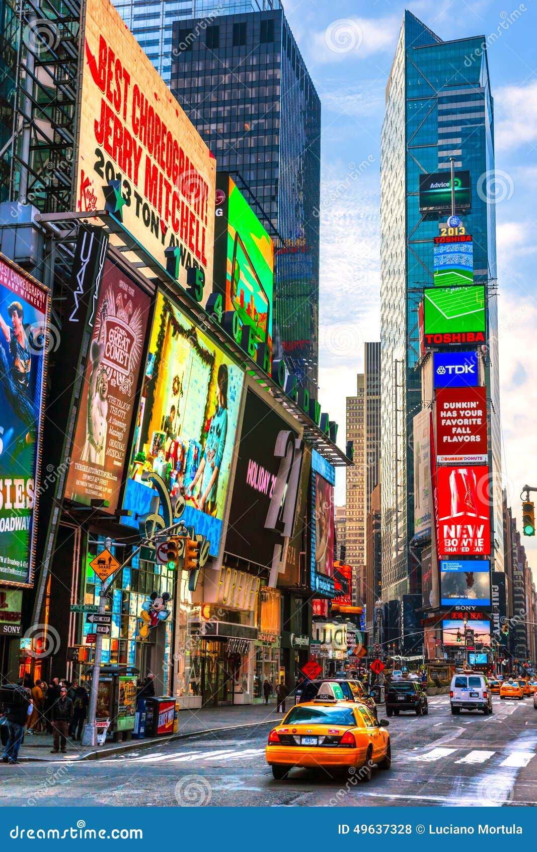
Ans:
POLYGON ((0 763, 0 805, 537 805, 531 699, 494 696, 494 715, 456 717, 439 696, 429 699, 426 717, 392 717, 391 770, 375 770, 369 784, 300 769, 273 780, 264 757, 270 728, 204 734, 92 762, 0 763))

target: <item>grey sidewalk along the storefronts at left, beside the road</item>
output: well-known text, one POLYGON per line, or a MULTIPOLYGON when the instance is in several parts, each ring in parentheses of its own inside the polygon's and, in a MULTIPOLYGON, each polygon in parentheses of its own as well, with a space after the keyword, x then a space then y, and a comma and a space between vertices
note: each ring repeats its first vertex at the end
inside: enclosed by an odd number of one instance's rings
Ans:
MULTIPOLYGON (((287 709, 292 706, 288 701, 287 709)), ((105 746, 82 746, 79 742, 67 740, 66 754, 51 754, 53 747, 52 734, 25 734, 24 743, 20 746, 20 763, 27 761, 65 762, 72 760, 99 760, 100 757, 110 757, 129 751, 162 746, 170 740, 184 740, 197 734, 207 734, 214 731, 235 730, 236 728, 268 726, 277 724, 282 718, 276 712, 276 705, 236 705, 232 707, 209 707, 201 710, 182 710, 179 714, 177 733, 169 737, 144 737, 143 740, 128 740, 127 742, 106 742, 105 746)))

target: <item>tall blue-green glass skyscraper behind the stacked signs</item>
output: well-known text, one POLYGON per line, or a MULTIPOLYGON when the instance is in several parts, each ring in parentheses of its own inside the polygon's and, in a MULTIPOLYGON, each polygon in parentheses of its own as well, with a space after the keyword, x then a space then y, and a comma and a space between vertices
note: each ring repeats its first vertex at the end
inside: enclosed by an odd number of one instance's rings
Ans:
MULTIPOLYGON (((401 601, 420 590, 414 556, 413 417, 422 407, 417 308, 433 280, 433 238, 446 216, 420 213, 420 175, 471 174, 474 284, 488 296, 486 383, 490 396, 494 564, 503 570, 500 400, 494 202, 494 108, 483 36, 443 42, 405 12, 386 87, 381 142, 381 469, 382 595, 401 601)), ((431 405, 432 400, 423 400, 431 405)))

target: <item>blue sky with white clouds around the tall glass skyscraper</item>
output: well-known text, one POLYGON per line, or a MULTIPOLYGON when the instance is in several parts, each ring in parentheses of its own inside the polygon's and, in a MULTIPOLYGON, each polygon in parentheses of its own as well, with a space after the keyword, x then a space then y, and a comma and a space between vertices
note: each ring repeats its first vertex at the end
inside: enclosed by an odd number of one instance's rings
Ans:
MULTIPOLYGON (((284 6, 323 105, 319 396, 340 423, 341 445, 346 395, 356 393, 363 370, 363 342, 380 339, 380 126, 403 10, 445 41, 488 39, 503 479, 520 528, 521 488, 537 486, 537 2, 284 0, 284 6)), ((336 499, 345 502, 344 475, 336 499)), ((524 542, 535 568, 537 539, 524 542)))

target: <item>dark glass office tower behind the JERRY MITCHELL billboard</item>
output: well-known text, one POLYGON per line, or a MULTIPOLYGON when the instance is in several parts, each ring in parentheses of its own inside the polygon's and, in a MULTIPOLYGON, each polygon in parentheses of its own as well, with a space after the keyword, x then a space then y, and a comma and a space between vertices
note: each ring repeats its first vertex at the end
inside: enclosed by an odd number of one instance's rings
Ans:
POLYGON ((283 9, 202 22, 174 23, 170 88, 277 232, 274 354, 317 396, 321 104, 283 9))

